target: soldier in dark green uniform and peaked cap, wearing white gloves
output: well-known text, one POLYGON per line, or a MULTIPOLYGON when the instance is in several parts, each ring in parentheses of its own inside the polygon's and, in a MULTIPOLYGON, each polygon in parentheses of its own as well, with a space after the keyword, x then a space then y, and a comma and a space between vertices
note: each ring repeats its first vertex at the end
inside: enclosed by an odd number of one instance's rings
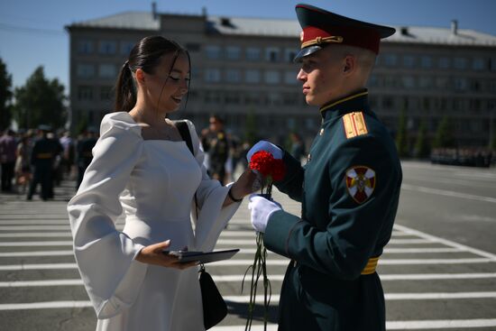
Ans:
POLYGON ((298 78, 322 124, 308 162, 269 142, 287 172, 276 183, 302 204, 301 216, 275 201, 250 198, 252 224, 272 252, 291 259, 280 291, 279 329, 385 330, 381 280, 375 272, 400 198, 401 167, 390 133, 368 105, 366 80, 381 38, 394 29, 297 5, 298 78))

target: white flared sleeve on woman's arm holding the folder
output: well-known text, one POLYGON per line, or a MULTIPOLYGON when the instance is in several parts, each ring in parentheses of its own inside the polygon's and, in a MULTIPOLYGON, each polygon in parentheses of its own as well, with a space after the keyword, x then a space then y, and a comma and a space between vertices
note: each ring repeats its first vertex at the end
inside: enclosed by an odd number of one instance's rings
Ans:
POLYGON ((143 246, 115 229, 123 211, 119 195, 142 155, 140 127, 119 116, 102 120, 93 161, 68 205, 76 262, 98 318, 133 305, 147 270, 134 260, 143 246))

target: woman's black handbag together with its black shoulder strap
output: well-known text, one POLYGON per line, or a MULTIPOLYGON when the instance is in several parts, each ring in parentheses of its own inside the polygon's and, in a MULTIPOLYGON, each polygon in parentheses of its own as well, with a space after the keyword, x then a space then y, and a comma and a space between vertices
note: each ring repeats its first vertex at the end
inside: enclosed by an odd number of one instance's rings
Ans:
MULTIPOLYGON (((193 152, 193 144, 191 143, 191 134, 189 133, 188 124, 185 121, 178 121, 176 122, 176 127, 178 128, 182 139, 188 145, 189 151, 194 156, 195 153, 193 152)), ((197 195, 195 194, 195 205, 197 206, 196 200, 197 195)), ((203 264, 200 265, 198 273, 203 305, 203 324, 208 330, 210 327, 216 326, 216 324, 224 319, 227 315, 227 305, 217 289, 216 283, 210 274, 205 271, 205 266, 203 264)))

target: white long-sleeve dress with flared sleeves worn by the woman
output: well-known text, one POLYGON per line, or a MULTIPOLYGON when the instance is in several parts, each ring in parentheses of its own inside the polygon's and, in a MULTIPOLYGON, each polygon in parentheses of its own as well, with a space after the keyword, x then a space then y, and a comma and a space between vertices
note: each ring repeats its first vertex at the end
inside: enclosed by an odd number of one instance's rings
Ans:
POLYGON ((93 161, 68 206, 96 330, 205 329, 197 268, 134 260, 143 246, 168 239, 171 250, 212 250, 240 205, 222 207, 229 188, 208 178, 195 128, 190 122, 188 128, 194 156, 185 142, 143 140, 128 113, 102 120, 93 161), (115 221, 123 213, 121 232, 115 221))

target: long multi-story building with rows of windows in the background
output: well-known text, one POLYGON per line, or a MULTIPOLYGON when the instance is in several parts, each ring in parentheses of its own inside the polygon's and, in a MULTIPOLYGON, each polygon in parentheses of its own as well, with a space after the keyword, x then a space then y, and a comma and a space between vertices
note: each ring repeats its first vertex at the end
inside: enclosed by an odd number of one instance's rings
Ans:
MULTIPOLYGON (((410 140, 422 121, 428 134, 451 118, 460 146, 487 146, 496 136, 496 36, 451 27, 397 27, 381 44, 369 81, 372 109, 395 133, 401 112, 410 140)), ((295 20, 128 12, 67 26, 71 123, 97 125, 112 111, 118 71, 133 44, 161 34, 191 55, 187 109, 199 131, 221 115, 242 136, 252 117, 261 137, 283 143, 290 131, 311 140, 320 115, 307 106, 292 59, 299 50, 295 20)))

